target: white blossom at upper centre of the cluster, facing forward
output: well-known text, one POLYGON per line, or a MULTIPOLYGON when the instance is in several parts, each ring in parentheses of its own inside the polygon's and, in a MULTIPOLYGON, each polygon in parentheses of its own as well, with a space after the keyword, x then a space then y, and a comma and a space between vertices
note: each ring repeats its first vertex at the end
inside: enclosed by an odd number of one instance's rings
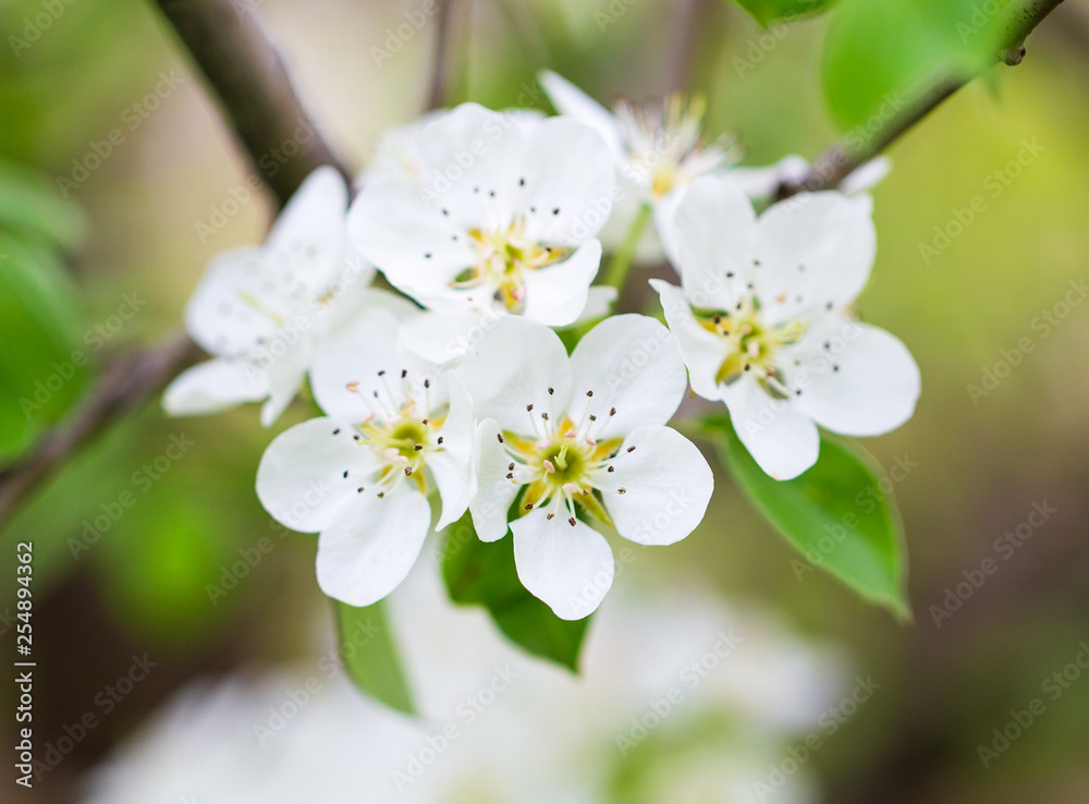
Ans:
POLYGON ((416 178, 386 171, 352 205, 359 251, 435 310, 576 321, 601 261, 595 235, 612 208, 601 137, 571 119, 465 103, 419 131, 414 151, 416 178))

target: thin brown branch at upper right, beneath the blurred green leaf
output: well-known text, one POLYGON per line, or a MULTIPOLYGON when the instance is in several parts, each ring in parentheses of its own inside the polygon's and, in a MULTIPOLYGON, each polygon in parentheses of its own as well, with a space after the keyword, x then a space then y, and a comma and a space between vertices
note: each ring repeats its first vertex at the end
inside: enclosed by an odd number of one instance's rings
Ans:
MULTIPOLYGON (((1000 42, 994 54, 995 63, 1019 64, 1025 56, 1025 39, 1054 11, 1063 0, 1013 0, 998 20, 995 32, 1000 42)), ((787 198, 803 191, 834 190, 857 168, 873 159, 892 145, 916 123, 975 76, 942 78, 933 83, 902 114, 892 118, 868 136, 854 132, 813 160, 809 175, 802 182, 783 184, 778 196, 787 198), (861 145, 854 145, 861 141, 861 145)))

